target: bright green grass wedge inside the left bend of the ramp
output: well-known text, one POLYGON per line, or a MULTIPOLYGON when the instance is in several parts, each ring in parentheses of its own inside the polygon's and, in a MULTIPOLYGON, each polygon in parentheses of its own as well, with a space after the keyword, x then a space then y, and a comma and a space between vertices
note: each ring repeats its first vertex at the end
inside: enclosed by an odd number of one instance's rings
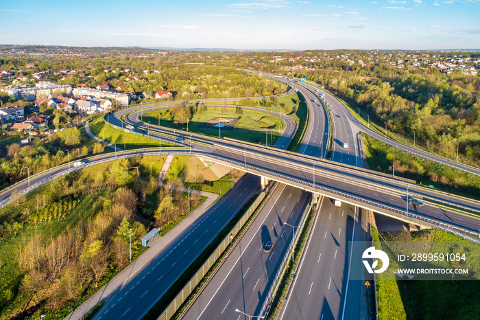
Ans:
MULTIPOLYGON (((116 141, 117 147, 123 150, 140 149, 140 148, 155 148, 158 147, 158 140, 149 139, 140 135, 134 135, 132 133, 125 133, 122 130, 112 128, 105 124, 103 114, 94 115, 92 121, 89 124, 91 132, 99 137, 105 139, 110 144, 114 144, 116 141), (115 141, 114 141, 115 139, 115 141)), ((169 146, 162 142, 162 146, 169 146)))

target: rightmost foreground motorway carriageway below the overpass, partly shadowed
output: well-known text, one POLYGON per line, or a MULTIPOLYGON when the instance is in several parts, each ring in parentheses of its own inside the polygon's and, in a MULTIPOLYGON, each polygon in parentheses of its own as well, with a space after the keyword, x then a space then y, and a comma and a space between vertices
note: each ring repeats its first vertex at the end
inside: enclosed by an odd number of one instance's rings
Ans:
MULTIPOLYGON (((357 218, 354 206, 342 203, 335 207, 330 199, 322 198, 279 319, 341 319, 348 278, 346 248, 352 240, 352 228, 359 225, 357 218)), ((350 295, 352 292, 357 293, 349 289, 350 295)))

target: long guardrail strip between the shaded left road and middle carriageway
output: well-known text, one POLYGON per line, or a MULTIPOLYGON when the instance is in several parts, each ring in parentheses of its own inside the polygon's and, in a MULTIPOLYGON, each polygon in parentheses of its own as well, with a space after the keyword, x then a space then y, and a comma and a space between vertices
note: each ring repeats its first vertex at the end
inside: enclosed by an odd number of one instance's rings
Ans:
POLYGON ((243 214, 237 225, 232 228, 228 236, 219 244, 215 252, 213 252, 206 262, 198 269, 197 273, 191 277, 190 281, 182 288, 180 293, 171 301, 169 306, 162 312, 162 314, 157 318, 158 320, 168 320, 170 319, 175 312, 182 306, 183 302, 189 297, 189 295, 195 290, 195 287, 202 281, 206 273, 210 268, 215 264, 218 258, 224 253, 225 249, 228 247, 228 244, 237 236, 237 233, 241 230, 243 225, 248 221, 250 216, 255 212, 256 208, 259 207, 261 202, 265 198, 265 192, 261 192, 259 196, 256 197, 254 203, 250 205, 247 212, 243 214))

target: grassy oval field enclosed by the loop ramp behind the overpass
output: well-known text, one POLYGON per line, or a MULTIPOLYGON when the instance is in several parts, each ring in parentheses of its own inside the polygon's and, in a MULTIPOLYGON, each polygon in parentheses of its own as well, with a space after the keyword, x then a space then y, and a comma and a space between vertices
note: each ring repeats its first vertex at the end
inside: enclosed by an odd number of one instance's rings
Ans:
MULTIPOLYGON (((235 108, 226 108, 226 112, 222 113, 222 106, 208 107, 206 111, 197 112, 192 115, 189 121, 189 130, 193 133, 202 133, 213 137, 228 137, 230 139, 238 139, 252 143, 265 144, 265 133, 267 133, 268 144, 273 144, 280 137, 278 130, 285 128, 285 122, 274 115, 266 115, 258 111, 250 111, 243 109, 243 114, 235 113, 235 108), (216 110, 215 110, 216 109, 216 110), (202 128, 202 126, 210 119, 215 117, 224 117, 229 119, 239 119, 233 130, 224 128, 202 128)), ((187 135, 187 123, 176 124, 173 117, 169 113, 169 109, 160 111, 150 111, 143 114, 143 122, 158 125, 158 115, 160 115, 160 126, 184 130, 187 135)))

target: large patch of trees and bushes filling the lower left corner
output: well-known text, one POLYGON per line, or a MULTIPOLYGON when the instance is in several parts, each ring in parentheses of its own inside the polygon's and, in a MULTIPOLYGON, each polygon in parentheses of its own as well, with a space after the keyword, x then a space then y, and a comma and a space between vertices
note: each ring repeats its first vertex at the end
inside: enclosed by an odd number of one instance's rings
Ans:
MULTIPOLYGON (((0 317, 63 319, 128 265, 130 228, 137 258, 147 231, 165 232, 182 220, 188 196, 173 187, 184 187, 187 172, 174 169, 161 187, 164 161, 87 167, 0 209, 0 317)), ((192 190, 191 210, 204 199, 192 190)))

